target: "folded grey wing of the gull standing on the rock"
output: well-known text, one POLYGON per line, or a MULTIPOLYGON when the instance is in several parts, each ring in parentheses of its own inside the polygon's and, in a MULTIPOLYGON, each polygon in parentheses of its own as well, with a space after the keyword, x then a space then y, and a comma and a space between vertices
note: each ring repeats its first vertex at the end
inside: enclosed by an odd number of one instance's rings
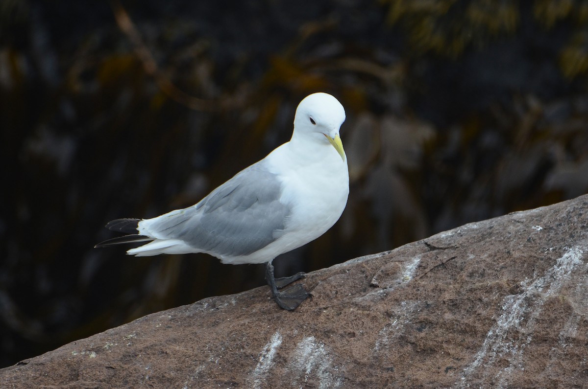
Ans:
POLYGON ((280 203, 281 192, 278 177, 256 164, 195 206, 162 216, 150 230, 222 256, 248 255, 272 243, 284 229, 290 208, 280 203))

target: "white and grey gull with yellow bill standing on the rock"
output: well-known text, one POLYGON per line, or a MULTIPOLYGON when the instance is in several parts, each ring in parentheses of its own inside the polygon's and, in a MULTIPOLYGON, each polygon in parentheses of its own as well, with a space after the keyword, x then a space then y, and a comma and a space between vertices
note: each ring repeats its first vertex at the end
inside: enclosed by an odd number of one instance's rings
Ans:
POLYGON ((272 260, 324 234, 349 196, 347 157, 339 130, 345 109, 328 93, 306 96, 296 109, 289 142, 246 167, 197 204, 153 217, 116 219, 106 228, 127 233, 96 244, 148 242, 126 251, 138 257, 206 253, 222 263, 266 263, 265 278, 280 308, 309 297, 297 273, 276 279, 272 260))

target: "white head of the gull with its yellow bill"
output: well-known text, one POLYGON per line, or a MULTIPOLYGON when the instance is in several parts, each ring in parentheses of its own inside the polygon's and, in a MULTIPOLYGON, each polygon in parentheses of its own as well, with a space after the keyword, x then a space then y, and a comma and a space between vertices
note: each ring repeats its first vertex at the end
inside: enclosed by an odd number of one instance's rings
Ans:
POLYGON ((343 143, 339 137, 339 129, 345 122, 345 109, 328 93, 313 93, 306 96, 296 109, 294 116, 294 134, 310 135, 319 142, 329 142, 345 161, 343 143))

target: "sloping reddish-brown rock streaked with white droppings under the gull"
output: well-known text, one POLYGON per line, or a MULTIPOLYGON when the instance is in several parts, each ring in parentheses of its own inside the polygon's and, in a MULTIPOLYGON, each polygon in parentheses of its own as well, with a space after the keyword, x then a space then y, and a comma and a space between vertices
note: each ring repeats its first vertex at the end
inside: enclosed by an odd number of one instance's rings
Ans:
POLYGON ((0 387, 585 387, 588 196, 139 318, 0 370, 0 387))

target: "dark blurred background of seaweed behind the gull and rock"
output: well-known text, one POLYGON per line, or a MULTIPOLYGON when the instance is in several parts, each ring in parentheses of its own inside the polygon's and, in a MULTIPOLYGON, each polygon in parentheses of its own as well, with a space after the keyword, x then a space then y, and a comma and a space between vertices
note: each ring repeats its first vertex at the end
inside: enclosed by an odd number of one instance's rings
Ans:
POLYGON ((317 91, 349 203, 278 275, 588 192, 586 1, 0 0, 0 367, 265 284, 92 247, 286 142, 317 91))

